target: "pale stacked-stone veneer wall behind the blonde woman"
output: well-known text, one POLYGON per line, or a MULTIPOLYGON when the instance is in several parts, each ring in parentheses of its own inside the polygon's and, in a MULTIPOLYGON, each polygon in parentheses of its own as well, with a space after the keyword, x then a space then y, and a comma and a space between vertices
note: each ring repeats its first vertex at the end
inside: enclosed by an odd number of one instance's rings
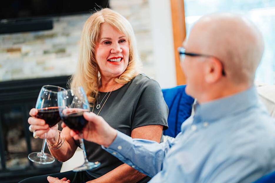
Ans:
MULTIPOLYGON (((154 77, 148 0, 110 0, 109 3, 132 24, 143 71, 154 77)), ((0 81, 72 74, 78 59, 81 30, 89 16, 55 17, 52 30, 1 34, 0 81)))

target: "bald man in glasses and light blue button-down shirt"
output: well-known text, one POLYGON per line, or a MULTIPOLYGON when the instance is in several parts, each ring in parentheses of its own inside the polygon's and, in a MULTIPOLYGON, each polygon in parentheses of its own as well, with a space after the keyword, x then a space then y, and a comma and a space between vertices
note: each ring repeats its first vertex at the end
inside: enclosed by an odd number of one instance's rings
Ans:
POLYGON ((254 182, 275 170, 275 123, 253 85, 263 50, 246 18, 204 16, 179 48, 186 93, 198 104, 174 141, 132 139, 93 113, 84 114, 84 138, 153 177, 150 183, 254 182))

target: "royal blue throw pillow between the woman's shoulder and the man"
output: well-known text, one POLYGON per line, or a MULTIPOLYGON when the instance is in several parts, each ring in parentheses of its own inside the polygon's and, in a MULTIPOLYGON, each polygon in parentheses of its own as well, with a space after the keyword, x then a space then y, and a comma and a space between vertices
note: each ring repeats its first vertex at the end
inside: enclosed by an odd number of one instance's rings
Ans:
POLYGON ((164 100, 169 108, 168 129, 164 135, 176 137, 181 131, 181 124, 189 118, 194 99, 185 93, 186 85, 162 89, 164 100))

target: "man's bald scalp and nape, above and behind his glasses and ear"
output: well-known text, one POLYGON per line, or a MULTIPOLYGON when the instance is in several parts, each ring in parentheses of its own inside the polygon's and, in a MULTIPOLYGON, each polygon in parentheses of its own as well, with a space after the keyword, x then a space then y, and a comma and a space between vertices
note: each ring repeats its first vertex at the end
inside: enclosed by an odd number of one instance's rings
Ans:
POLYGON ((260 31, 248 19, 230 13, 204 16, 194 25, 186 46, 221 60, 234 83, 254 82, 264 51, 260 31))

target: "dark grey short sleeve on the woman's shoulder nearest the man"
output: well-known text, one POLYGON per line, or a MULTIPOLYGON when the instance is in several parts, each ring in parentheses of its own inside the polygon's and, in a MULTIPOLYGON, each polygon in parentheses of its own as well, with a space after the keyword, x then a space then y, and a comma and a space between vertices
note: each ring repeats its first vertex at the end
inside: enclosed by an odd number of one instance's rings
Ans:
POLYGON ((164 101, 159 83, 148 79, 137 92, 135 109, 132 114, 131 130, 146 125, 162 125, 168 128, 168 107, 164 101))

